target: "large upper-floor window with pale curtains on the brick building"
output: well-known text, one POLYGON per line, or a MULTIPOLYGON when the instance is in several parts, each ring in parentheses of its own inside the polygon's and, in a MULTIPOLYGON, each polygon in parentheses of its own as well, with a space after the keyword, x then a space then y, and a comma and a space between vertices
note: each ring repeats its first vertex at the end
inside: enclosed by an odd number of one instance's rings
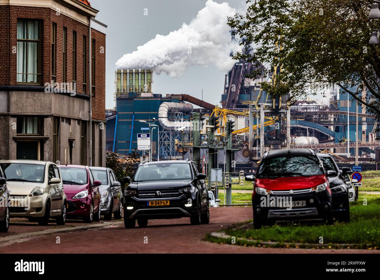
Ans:
POLYGON ((17 83, 40 83, 40 22, 17 19, 17 83))

